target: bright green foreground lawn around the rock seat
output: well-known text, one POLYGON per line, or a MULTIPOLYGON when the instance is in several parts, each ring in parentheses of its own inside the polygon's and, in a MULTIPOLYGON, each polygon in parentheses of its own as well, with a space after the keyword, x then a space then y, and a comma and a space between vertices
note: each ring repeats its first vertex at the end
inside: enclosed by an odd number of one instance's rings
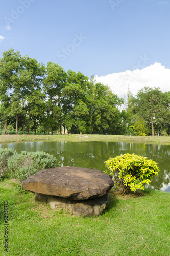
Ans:
MULTIPOLYGON (((168 255, 170 194, 145 190, 128 196, 111 191, 112 201, 98 217, 55 212, 23 193, 14 181, 0 183, 0 225, 8 201, 9 255, 168 255)), ((1 232, 1 255, 4 231, 1 232)))

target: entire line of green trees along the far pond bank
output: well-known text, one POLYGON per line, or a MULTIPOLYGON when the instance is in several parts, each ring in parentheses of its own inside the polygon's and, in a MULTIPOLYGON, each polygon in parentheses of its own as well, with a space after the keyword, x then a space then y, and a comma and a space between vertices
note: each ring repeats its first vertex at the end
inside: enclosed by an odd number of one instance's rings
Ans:
POLYGON ((169 92, 144 88, 137 97, 130 90, 126 109, 123 98, 81 72, 21 56, 9 49, 0 59, 0 117, 4 133, 16 127, 16 134, 46 133, 154 135, 168 132, 169 92))

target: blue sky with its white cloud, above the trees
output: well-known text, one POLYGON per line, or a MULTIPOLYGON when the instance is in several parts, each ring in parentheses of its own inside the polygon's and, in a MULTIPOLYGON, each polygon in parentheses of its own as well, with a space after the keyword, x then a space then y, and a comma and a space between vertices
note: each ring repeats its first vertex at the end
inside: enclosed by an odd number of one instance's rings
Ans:
POLYGON ((122 96, 144 86, 169 91, 170 0, 7 0, 0 58, 10 48, 80 71, 122 96), (118 88, 118 89, 117 89, 118 88))

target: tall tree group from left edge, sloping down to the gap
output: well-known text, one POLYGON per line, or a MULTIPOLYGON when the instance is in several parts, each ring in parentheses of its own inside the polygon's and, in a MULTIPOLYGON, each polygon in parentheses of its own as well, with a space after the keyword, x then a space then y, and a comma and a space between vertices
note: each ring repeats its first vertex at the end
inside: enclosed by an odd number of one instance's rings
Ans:
MULTIPOLYGON (((10 49, 0 60, 1 123, 7 133, 7 123, 30 131, 68 133, 120 133, 125 113, 123 103, 108 86, 96 83, 81 72, 64 69, 48 62, 42 63, 10 49)), ((157 119, 162 122, 161 117, 157 119)), ((162 125, 162 124, 161 124, 162 125)))

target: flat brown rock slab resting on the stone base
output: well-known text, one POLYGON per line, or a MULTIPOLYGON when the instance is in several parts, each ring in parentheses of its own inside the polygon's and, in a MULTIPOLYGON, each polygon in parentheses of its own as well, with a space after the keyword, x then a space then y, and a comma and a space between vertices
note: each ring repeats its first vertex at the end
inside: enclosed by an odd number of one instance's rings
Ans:
POLYGON ((114 182, 101 170, 57 167, 35 173, 22 183, 23 189, 70 200, 86 200, 105 195, 114 182))

